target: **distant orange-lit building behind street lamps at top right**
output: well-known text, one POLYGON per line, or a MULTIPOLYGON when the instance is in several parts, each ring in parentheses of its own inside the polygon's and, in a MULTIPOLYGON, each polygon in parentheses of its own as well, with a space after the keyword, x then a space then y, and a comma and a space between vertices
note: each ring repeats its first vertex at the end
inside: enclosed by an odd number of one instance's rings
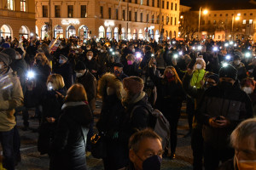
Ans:
POLYGON ((204 37, 215 40, 256 38, 256 9, 209 10, 201 14, 204 37))

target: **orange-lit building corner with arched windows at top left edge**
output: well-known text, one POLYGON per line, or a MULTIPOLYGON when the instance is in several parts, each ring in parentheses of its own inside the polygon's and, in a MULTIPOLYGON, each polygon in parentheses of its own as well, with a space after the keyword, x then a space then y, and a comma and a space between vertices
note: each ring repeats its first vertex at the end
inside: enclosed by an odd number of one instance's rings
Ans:
POLYGON ((0 35, 6 37, 30 37, 35 33, 34 0, 0 1, 0 35))

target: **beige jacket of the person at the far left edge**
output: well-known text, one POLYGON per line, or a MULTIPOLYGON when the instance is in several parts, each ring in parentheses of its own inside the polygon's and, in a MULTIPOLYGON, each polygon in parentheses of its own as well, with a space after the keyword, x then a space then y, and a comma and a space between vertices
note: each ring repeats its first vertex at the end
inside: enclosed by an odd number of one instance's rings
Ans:
POLYGON ((0 75, 0 132, 7 132, 16 125, 15 108, 23 105, 19 78, 11 69, 0 75))

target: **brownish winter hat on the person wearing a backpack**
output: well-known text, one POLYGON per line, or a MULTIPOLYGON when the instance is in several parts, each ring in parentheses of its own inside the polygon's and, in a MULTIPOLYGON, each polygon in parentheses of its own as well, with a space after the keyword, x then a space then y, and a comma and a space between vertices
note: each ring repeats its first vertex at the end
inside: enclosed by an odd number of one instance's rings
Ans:
POLYGON ((123 80, 124 88, 131 94, 139 94, 143 92, 144 82, 140 77, 126 77, 123 80))

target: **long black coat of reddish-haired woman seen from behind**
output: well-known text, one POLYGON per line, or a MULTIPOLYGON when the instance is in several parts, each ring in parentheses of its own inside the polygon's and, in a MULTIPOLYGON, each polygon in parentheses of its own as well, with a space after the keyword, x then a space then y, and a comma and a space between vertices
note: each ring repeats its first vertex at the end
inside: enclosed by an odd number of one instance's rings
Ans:
POLYGON ((56 128, 50 152, 49 169, 52 170, 87 169, 85 147, 92 113, 89 105, 72 103, 62 110, 56 128))

